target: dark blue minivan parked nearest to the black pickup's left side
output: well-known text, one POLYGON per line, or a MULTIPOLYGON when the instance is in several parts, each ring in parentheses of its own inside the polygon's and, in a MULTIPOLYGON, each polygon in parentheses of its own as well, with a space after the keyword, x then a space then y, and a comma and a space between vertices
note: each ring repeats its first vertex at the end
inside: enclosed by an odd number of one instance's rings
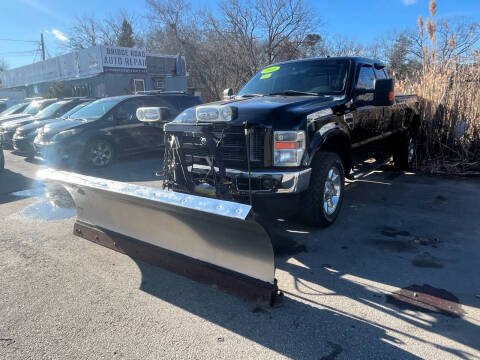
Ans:
POLYGON ((100 99, 70 119, 42 127, 34 141, 35 151, 52 164, 108 166, 116 157, 163 147, 162 127, 140 122, 136 116, 139 107, 168 107, 171 120, 200 103, 199 97, 179 92, 100 99))

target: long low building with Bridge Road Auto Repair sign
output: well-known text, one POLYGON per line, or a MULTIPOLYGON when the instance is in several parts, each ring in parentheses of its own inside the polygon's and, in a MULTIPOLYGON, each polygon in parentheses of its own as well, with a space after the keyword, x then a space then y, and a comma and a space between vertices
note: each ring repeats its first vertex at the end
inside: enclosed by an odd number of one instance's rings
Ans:
POLYGON ((97 45, 0 73, 0 97, 93 96, 187 91, 185 58, 97 45))

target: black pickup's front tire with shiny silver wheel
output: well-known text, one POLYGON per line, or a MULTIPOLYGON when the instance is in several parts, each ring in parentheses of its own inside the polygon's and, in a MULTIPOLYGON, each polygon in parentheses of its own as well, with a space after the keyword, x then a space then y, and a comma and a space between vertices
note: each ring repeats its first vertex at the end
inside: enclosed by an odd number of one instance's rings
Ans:
POLYGON ((315 227, 333 224, 342 207, 345 173, 340 156, 320 152, 312 163, 308 190, 303 194, 300 221, 315 227))

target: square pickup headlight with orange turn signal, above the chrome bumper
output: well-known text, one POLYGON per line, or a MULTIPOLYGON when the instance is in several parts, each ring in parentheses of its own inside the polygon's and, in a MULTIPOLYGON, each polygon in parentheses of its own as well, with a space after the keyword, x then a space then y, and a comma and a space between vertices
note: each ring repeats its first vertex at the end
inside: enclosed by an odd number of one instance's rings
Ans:
POLYGON ((273 165, 300 166, 305 153, 304 131, 275 131, 273 135, 273 165))

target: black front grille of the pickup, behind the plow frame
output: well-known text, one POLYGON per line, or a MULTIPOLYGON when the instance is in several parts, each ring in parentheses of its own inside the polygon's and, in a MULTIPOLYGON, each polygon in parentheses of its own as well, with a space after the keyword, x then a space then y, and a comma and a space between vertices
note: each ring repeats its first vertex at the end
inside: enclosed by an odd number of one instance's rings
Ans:
MULTIPOLYGON (((222 139, 219 151, 223 154, 226 167, 246 167, 247 150, 244 128, 241 126, 213 125, 212 133, 216 138, 222 139)), ((254 129, 250 135, 250 161, 252 166, 264 164, 264 139, 265 129, 254 129)), ((205 144, 202 144, 202 134, 194 133, 182 136, 183 153, 188 160, 194 163, 206 164, 205 158, 209 151, 205 144)))

